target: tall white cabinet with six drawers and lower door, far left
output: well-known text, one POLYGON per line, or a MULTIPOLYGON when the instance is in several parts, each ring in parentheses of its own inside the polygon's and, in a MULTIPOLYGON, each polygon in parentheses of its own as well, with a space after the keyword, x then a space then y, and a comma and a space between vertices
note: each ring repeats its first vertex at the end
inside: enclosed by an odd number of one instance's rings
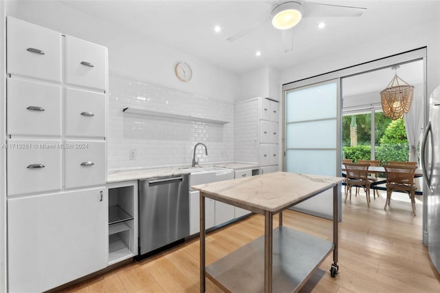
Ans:
POLYGON ((7 18, 8 290, 107 266, 107 48, 7 18))

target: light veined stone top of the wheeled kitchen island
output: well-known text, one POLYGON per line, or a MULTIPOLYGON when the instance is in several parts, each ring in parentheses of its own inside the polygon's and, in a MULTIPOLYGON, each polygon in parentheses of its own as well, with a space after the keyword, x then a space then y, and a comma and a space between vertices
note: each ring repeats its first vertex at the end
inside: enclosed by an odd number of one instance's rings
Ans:
POLYGON ((192 186, 206 197, 264 215, 276 213, 342 182, 342 177, 276 172, 192 186))

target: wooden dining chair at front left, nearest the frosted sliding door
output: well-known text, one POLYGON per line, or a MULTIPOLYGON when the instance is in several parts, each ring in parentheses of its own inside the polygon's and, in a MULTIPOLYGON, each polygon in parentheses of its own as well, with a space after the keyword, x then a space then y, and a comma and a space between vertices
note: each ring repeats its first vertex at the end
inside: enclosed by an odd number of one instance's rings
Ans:
MULTIPOLYGON (((368 179, 370 164, 360 164, 360 163, 345 163, 345 169, 347 171, 347 188, 350 193, 351 200, 351 188, 362 187, 365 188, 366 204, 370 206, 370 184, 368 179)), ((344 202, 347 202, 348 193, 345 194, 344 202)))

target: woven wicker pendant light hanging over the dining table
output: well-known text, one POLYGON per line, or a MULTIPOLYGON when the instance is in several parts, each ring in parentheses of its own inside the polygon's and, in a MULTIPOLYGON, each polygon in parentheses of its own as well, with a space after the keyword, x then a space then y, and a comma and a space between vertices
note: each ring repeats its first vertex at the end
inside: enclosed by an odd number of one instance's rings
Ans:
POLYGON ((397 76, 398 68, 399 66, 392 68, 396 72, 395 76, 386 89, 380 92, 382 111, 384 111, 384 116, 391 118, 391 120, 404 118, 404 113, 410 111, 414 94, 414 87, 397 76))

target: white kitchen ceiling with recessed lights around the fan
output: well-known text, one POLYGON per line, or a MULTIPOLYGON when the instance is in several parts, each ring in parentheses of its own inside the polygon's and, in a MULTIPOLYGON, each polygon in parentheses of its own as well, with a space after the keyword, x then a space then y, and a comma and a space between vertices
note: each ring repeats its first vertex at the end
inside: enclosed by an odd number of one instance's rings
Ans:
POLYGON ((270 21, 232 43, 226 40, 269 17, 276 1, 58 1, 238 74, 262 66, 293 67, 439 17, 438 0, 313 0, 367 10, 362 17, 303 19, 294 28, 294 50, 285 53, 281 32, 270 21), (323 30, 317 28, 320 21, 327 23, 323 30), (221 26, 219 34, 214 25, 221 26), (262 52, 260 57, 256 50, 262 52))

